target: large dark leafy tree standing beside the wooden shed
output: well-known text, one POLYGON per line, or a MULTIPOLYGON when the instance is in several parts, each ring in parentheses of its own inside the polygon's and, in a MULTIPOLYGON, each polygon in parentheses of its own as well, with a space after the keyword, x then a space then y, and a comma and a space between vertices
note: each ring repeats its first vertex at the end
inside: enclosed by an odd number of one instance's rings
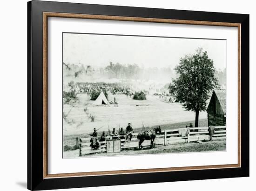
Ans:
POLYGON ((170 83, 169 91, 186 110, 195 111, 195 127, 198 127, 199 112, 206 110, 210 92, 218 88, 213 60, 207 51, 198 48, 195 54, 182 57, 175 70, 178 77, 170 83))

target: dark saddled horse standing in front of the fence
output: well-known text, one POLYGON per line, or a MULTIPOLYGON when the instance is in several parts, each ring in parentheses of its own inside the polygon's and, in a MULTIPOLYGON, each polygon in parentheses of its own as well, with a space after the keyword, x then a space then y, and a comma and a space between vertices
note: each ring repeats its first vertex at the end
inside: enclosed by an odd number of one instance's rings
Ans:
POLYGON ((157 133, 161 134, 161 127, 156 127, 150 131, 142 131, 137 135, 137 139, 139 140, 139 149, 142 149, 142 143, 144 140, 150 140, 150 148, 153 148, 153 143, 156 138, 157 133))

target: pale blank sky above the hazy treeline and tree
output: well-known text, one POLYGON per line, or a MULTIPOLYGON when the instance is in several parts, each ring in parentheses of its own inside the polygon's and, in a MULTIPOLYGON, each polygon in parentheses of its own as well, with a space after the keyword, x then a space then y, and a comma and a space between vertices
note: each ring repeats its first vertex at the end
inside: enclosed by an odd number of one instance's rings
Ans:
POLYGON ((226 68, 226 40, 63 34, 63 62, 105 67, 110 61, 174 68, 180 57, 202 47, 216 69, 226 68))

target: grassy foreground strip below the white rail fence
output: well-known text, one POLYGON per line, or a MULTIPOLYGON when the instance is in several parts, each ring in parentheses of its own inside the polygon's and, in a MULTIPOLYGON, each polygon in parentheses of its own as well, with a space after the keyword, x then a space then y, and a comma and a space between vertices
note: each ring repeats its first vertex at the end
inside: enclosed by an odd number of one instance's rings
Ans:
MULTIPOLYGON (((193 152, 213 152, 213 151, 225 151, 226 140, 214 140, 205 141, 201 143, 179 143, 175 145, 158 145, 153 149, 145 148, 139 149, 127 149, 122 150, 120 153, 94 153, 90 154, 91 157, 99 156, 113 156, 113 155, 139 155, 139 154, 158 154, 158 153, 193 153, 193 152)), ((79 149, 74 151, 64 152, 64 158, 79 156, 79 149)), ((88 155, 86 155, 88 156, 88 155)))

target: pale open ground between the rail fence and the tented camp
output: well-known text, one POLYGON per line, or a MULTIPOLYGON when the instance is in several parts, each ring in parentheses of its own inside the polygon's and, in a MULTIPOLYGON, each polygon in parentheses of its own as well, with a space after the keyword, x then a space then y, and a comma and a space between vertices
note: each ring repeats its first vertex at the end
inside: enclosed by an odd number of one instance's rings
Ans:
MULTIPOLYGON (((145 127, 152 127, 195 120, 195 113, 186 111, 180 103, 162 102, 156 96, 147 96, 147 100, 139 101, 126 95, 109 94, 108 101, 114 101, 114 97, 119 107, 114 107, 114 104, 110 104, 109 107, 94 106, 92 105, 94 101, 91 101, 87 94, 80 94, 79 100, 67 116, 68 121, 73 122, 70 124, 63 122, 64 136, 91 133, 94 127, 101 126, 103 127, 100 131, 107 131, 108 126, 111 130, 113 127, 118 130, 119 127, 126 128, 128 122, 133 128, 141 128, 142 122, 145 127), (88 118, 84 108, 95 117, 94 122, 88 118)), ((64 105, 64 114, 67 114, 70 108, 70 105, 64 105)), ((206 118, 207 113, 201 112, 199 119, 206 118)))

